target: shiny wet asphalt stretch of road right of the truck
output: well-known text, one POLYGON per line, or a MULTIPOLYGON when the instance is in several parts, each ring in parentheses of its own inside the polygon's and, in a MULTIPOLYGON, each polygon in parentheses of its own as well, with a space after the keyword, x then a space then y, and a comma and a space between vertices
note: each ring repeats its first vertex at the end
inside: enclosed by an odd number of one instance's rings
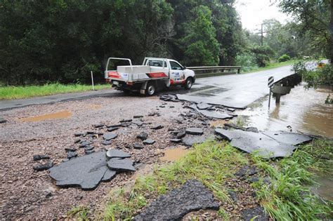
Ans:
POLYGON ((274 76, 274 81, 278 81, 285 76, 294 74, 291 69, 292 66, 289 65, 249 74, 197 79, 189 93, 178 97, 182 100, 244 109, 252 102, 268 95, 268 77, 274 76))

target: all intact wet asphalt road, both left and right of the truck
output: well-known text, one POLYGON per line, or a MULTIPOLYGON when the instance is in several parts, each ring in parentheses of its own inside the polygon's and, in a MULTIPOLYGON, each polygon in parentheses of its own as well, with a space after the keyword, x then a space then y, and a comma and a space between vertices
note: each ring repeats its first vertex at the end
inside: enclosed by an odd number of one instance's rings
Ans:
MULTIPOLYGON (((232 74, 225 76, 211 76, 197 79, 190 91, 182 88, 171 89, 171 93, 181 94, 181 99, 195 102, 206 102, 227 107, 245 108, 255 100, 269 93, 267 81, 269 76, 274 76, 275 81, 293 74, 292 66, 278 67, 250 74, 232 74)), ((0 101, 0 111, 29 105, 41 105, 65 100, 81 100, 93 97, 110 97, 119 94, 119 91, 103 90, 88 91, 83 93, 69 93, 50 95, 37 98, 0 101)))

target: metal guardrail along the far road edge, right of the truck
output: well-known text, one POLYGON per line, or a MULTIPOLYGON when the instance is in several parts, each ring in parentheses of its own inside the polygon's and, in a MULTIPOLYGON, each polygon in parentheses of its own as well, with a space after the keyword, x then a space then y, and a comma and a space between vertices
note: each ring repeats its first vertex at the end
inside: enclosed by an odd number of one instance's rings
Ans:
POLYGON ((218 74, 240 74, 240 66, 203 66, 203 67, 187 67, 195 71, 197 76, 209 76, 218 74))

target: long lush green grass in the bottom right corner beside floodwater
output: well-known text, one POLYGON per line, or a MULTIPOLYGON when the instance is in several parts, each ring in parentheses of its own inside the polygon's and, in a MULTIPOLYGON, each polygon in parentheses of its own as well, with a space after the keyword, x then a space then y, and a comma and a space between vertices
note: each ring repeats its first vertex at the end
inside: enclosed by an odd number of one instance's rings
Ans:
POLYGON ((256 165, 270 177, 270 185, 262 180, 254 184, 265 210, 275 220, 321 220, 332 218, 332 201, 320 199, 311 192, 315 173, 332 177, 333 142, 316 140, 303 145, 280 161, 266 161, 254 156, 256 165))

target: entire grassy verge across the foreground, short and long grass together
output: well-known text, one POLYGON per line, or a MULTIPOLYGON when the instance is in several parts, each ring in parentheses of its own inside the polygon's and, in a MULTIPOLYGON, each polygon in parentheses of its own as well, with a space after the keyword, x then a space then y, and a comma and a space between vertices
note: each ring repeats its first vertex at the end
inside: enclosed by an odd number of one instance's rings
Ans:
MULTIPOLYGON (((130 220, 152 199, 179 187, 188 179, 200 180, 219 201, 228 198, 226 180, 234 178, 235 172, 244 165, 253 164, 263 170, 259 182, 254 182, 256 197, 266 212, 275 220, 318 220, 332 218, 331 201, 320 199, 311 193, 317 173, 332 177, 333 143, 316 140, 296 149, 293 156, 266 160, 244 154, 230 147, 228 142, 208 140, 182 159, 156 167, 151 175, 136 179, 130 189, 110 192, 105 220, 130 220), (331 164, 329 164, 331 163, 331 164), (265 182, 264 176, 269 177, 265 182)), ((220 208, 218 216, 229 220, 230 214, 220 208)))

